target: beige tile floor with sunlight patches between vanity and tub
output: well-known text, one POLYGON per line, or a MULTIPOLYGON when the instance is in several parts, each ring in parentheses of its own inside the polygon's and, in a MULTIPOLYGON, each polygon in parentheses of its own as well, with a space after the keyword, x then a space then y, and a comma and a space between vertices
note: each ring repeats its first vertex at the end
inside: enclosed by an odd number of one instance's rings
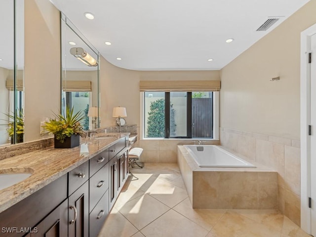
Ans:
POLYGON ((99 237, 310 237, 278 210, 193 209, 177 164, 131 171, 99 237))

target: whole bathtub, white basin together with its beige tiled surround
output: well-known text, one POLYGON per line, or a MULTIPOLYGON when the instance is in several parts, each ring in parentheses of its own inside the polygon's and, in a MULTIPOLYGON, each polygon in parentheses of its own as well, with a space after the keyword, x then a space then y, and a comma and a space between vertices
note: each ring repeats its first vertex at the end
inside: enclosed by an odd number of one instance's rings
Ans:
POLYGON ((193 208, 278 208, 277 172, 260 163, 214 145, 178 145, 177 163, 193 208))

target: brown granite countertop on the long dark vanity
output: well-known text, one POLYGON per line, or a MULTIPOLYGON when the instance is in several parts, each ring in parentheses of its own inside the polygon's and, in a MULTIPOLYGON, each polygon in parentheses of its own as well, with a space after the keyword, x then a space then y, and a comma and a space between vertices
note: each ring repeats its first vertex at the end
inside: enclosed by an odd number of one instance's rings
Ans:
POLYGON ((44 148, 0 160, 0 174, 31 172, 20 183, 0 190, 0 212, 30 196, 42 187, 63 176, 80 164, 106 150, 119 138, 130 133, 98 133, 92 138, 81 138, 80 146, 70 149, 44 148), (107 136, 100 139, 100 136, 107 136))

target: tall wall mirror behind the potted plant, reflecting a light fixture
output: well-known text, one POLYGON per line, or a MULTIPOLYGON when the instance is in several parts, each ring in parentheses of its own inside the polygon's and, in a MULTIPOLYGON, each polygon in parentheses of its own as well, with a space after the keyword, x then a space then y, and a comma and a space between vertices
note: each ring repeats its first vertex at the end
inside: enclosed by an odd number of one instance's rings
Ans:
POLYGON ((84 130, 99 127, 99 52, 61 15, 62 113, 82 111, 84 130))

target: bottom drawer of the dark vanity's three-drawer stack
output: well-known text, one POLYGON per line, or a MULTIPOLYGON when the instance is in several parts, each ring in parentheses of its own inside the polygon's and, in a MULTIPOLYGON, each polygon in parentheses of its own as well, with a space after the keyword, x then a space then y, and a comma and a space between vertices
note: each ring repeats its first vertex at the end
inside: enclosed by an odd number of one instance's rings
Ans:
POLYGON ((89 237, 97 237, 109 214, 109 190, 89 215, 89 237))

